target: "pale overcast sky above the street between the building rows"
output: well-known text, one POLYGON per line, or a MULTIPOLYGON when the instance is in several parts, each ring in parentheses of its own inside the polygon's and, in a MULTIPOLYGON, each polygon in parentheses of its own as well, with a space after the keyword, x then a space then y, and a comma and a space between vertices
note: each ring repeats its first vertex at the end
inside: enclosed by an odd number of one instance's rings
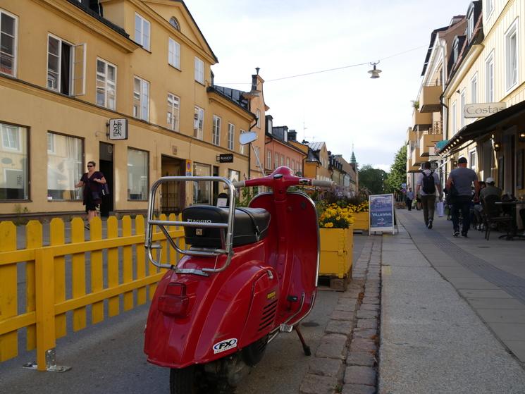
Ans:
POLYGON ((186 0, 219 63, 216 85, 249 90, 259 67, 273 125, 326 142, 359 166, 390 170, 412 123, 411 100, 432 30, 467 0, 186 0), (393 56, 397 55, 397 56, 393 56), (381 60, 381 78, 368 64, 381 60), (297 78, 278 78, 342 68, 297 78), (272 81, 275 80, 275 81, 272 81), (304 129, 305 128, 305 129, 304 129))

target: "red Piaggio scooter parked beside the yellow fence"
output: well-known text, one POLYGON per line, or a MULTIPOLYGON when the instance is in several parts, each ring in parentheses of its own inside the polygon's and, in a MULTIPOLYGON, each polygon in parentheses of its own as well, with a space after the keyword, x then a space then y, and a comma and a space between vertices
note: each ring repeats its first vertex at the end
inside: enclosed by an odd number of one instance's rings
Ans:
POLYGON ((264 178, 231 183, 221 177, 164 177, 149 195, 145 247, 153 264, 168 271, 149 309, 144 352, 148 361, 171 369, 171 393, 235 387, 257 364, 280 332, 294 331, 304 353, 309 347, 299 321, 312 307, 319 271, 319 229, 314 202, 291 186, 329 187, 331 182, 299 178, 279 167, 264 178), (173 181, 215 181, 229 190, 228 207, 192 205, 182 221, 154 218, 156 189, 173 181), (268 187, 235 209, 235 187, 268 187), (161 264, 152 242, 159 226, 185 257, 161 264), (168 233, 183 226, 184 250, 168 233))

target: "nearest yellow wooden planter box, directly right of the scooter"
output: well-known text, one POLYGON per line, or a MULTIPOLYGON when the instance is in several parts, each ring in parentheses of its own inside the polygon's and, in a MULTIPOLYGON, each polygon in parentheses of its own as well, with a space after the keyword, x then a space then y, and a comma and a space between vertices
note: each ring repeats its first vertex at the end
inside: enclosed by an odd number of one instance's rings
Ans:
POLYGON ((321 257, 319 275, 332 276, 348 281, 352 277, 352 249, 354 229, 320 228, 321 257))

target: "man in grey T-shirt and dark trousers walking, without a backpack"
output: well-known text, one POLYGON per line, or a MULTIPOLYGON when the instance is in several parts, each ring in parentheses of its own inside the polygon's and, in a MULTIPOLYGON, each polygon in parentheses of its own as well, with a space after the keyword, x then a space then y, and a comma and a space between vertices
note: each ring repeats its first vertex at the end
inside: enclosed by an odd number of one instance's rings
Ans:
POLYGON ((467 233, 469 233, 472 183, 474 183, 474 202, 477 202, 479 197, 478 176, 475 171, 467 168, 467 159, 460 157, 457 161, 457 168, 450 171, 447 179, 447 190, 451 190, 451 187, 455 188, 455 196, 452 197, 453 237, 459 237, 459 211, 461 211, 463 216, 462 238, 467 238, 467 233))

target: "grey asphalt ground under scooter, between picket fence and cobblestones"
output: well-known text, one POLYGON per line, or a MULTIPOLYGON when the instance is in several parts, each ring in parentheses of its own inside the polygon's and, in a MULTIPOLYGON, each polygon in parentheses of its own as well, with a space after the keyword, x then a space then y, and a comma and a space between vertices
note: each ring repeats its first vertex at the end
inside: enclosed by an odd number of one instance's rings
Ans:
MULTIPOLYGON (((320 291, 302 322, 312 352, 337 302, 338 293, 320 291)), ((23 363, 35 360, 35 352, 0 363, 0 393, 169 393, 169 370, 148 364, 142 352, 146 317, 147 306, 139 307, 58 340, 57 364, 72 367, 65 373, 23 369, 23 363)), ((235 393, 296 394, 308 363, 297 335, 281 333, 235 393)))

